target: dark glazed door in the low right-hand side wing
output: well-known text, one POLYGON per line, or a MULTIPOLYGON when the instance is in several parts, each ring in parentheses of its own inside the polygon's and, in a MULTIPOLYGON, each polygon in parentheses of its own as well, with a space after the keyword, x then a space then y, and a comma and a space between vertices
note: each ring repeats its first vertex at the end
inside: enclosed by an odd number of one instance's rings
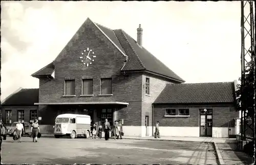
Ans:
POLYGON ((200 109, 200 136, 212 137, 212 109, 200 109))

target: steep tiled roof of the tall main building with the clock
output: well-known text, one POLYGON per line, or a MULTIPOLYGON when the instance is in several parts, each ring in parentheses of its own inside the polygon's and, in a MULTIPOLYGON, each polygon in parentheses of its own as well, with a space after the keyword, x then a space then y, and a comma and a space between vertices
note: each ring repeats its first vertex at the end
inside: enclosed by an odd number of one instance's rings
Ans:
MULTIPOLYGON (((92 22, 95 27, 98 28, 99 31, 101 31, 103 35, 108 38, 124 56, 127 56, 129 58, 129 60, 122 67, 122 71, 147 70, 152 73, 174 79, 180 83, 185 82, 182 78, 176 75, 172 70, 170 70, 166 65, 164 65, 145 48, 139 46, 137 42, 130 35, 126 34, 123 30, 112 30, 106 28, 102 25, 99 25, 98 23, 94 23, 90 18, 84 21, 83 25, 79 28, 79 30, 76 32, 76 34, 65 46, 65 48, 60 52, 55 60, 63 57, 63 54, 66 53, 66 49, 68 49, 68 46, 71 46, 73 42, 79 37, 82 29, 87 26, 88 22, 92 22)), ((48 76, 51 75, 53 71, 54 63, 50 63, 44 68, 38 70, 38 72, 34 73, 32 76, 48 76)))

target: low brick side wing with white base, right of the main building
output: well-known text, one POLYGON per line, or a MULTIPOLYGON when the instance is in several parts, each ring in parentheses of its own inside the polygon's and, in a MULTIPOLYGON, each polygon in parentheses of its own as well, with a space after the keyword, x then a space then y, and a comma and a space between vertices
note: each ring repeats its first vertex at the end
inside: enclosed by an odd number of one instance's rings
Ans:
POLYGON ((234 90, 233 82, 167 84, 153 104, 154 124, 162 136, 228 137, 239 117, 234 90))

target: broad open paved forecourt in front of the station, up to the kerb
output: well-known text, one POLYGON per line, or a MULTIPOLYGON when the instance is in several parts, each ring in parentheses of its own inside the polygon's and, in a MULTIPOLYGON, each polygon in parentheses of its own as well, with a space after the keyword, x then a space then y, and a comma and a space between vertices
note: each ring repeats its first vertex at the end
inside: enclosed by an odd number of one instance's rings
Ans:
POLYGON ((2 145, 4 163, 29 164, 217 164, 211 144, 151 140, 39 138, 2 145))

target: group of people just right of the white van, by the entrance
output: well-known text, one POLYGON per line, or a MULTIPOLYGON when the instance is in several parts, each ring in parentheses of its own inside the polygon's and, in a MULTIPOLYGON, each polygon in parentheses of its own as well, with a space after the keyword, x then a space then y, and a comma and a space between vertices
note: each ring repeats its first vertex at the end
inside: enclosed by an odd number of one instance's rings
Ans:
POLYGON ((110 122, 108 122, 108 119, 105 119, 105 123, 101 126, 99 126, 99 129, 97 131, 96 123, 93 124, 91 122, 91 134, 92 137, 96 139, 96 135, 98 134, 99 138, 102 136, 102 132, 104 131, 105 140, 109 140, 111 133, 113 132, 115 139, 122 139, 122 124, 121 121, 115 121, 113 125, 113 129, 111 129, 110 122))

